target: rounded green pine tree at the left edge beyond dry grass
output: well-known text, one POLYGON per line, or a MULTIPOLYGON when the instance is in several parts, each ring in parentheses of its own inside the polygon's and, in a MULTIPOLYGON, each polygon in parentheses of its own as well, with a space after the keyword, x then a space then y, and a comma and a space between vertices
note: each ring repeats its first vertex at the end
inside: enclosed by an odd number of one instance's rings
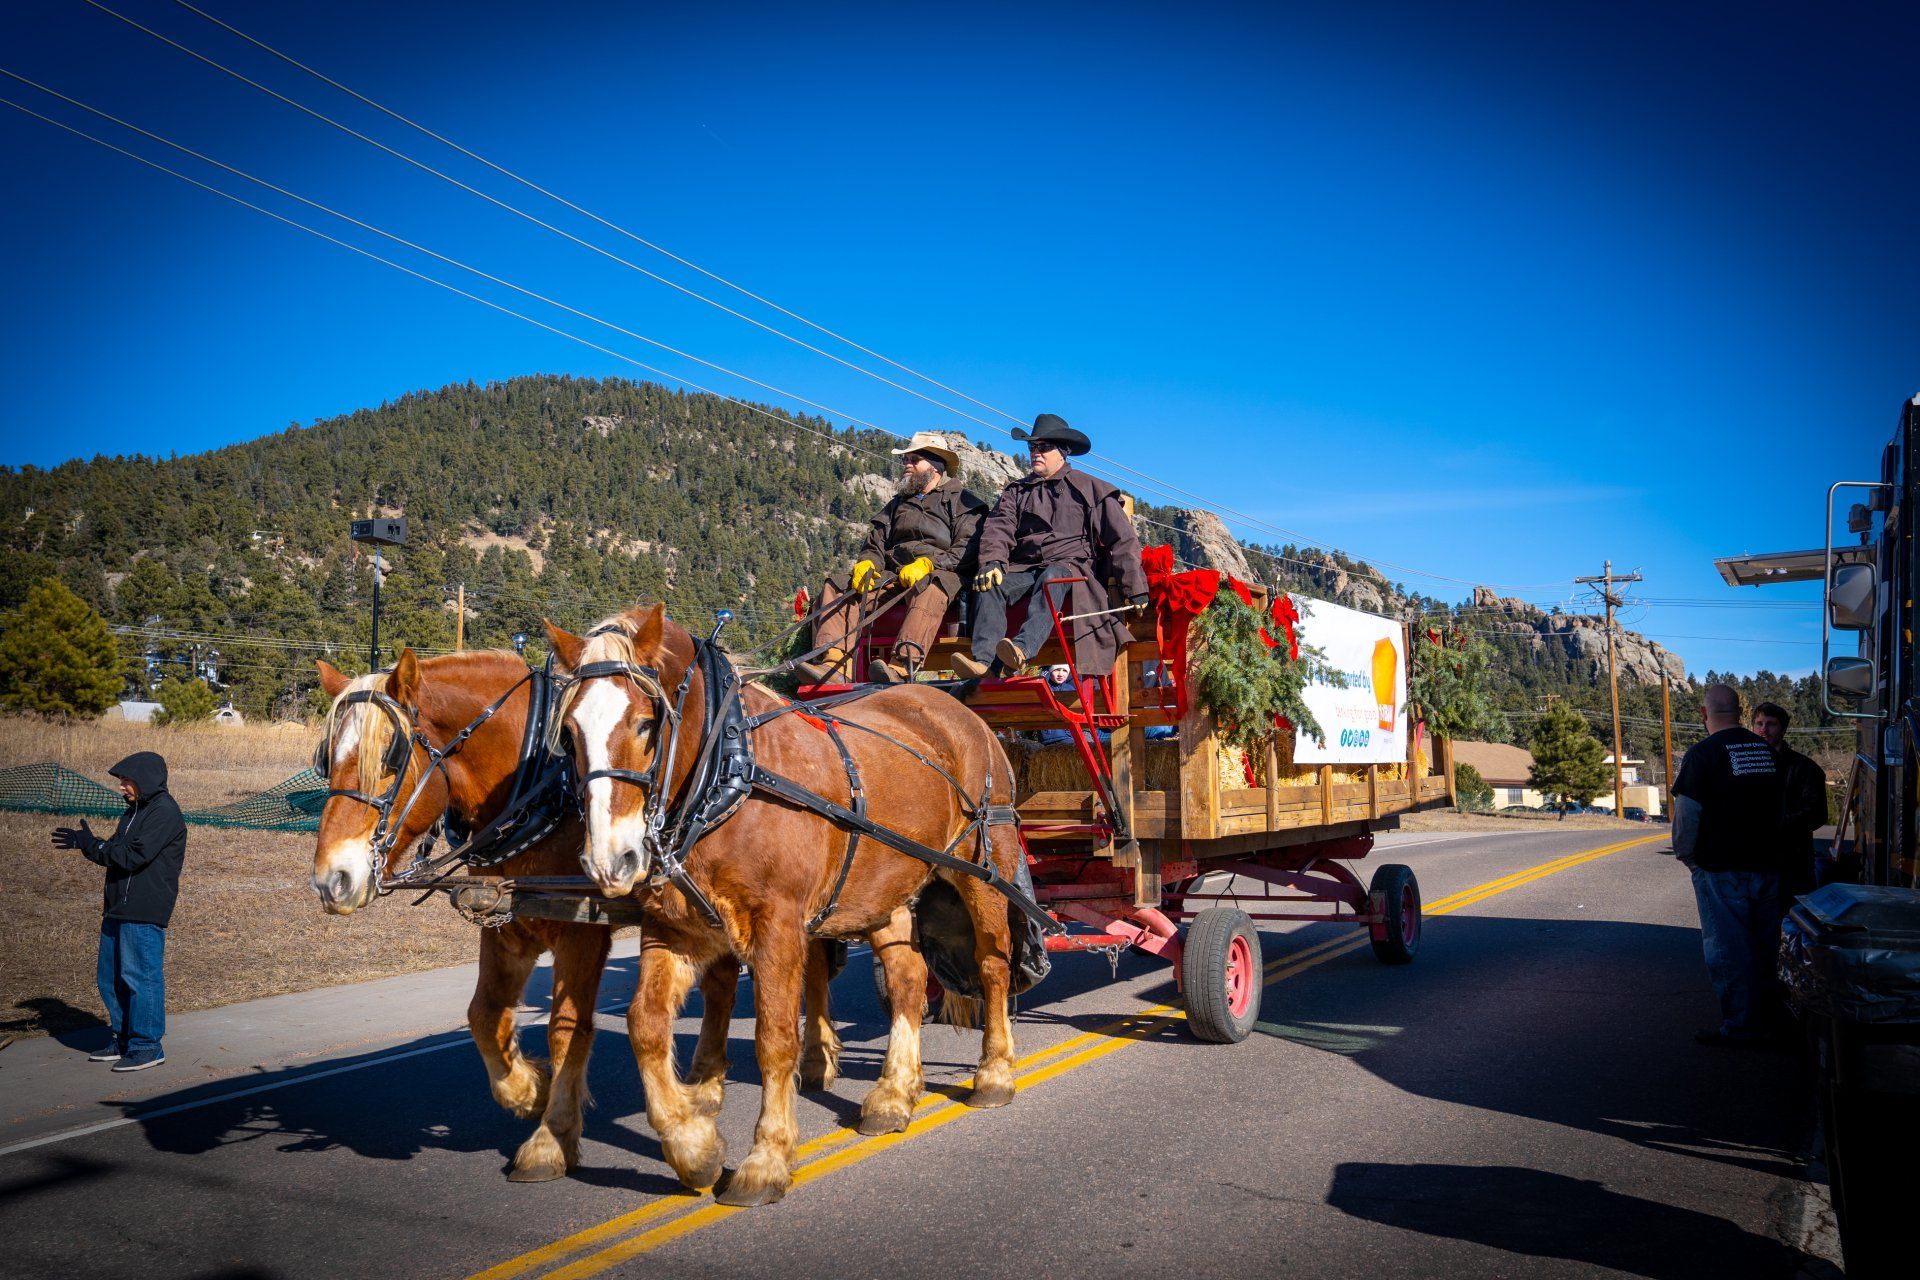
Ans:
POLYGON ((106 618, 58 578, 0 618, 0 706, 98 716, 121 695, 121 656, 106 618))

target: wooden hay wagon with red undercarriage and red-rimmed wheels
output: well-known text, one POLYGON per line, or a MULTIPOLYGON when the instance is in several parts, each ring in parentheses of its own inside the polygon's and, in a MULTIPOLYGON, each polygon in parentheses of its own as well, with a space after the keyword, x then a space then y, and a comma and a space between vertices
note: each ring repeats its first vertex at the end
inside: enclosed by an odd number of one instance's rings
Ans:
MULTIPOLYGON (((883 616, 866 631, 854 679, 889 647, 887 624, 883 616)), ((1056 612, 1054 637, 1035 654, 1041 668, 1073 668, 1064 633, 1056 612)), ((1402 628, 1402 654, 1411 652, 1405 641, 1402 628)), ((950 631, 925 666, 945 670, 966 643, 950 631)), ((1296 766, 1290 731, 1248 762, 1223 745, 1206 708, 1177 712, 1162 664, 1146 618, 1131 622, 1112 672, 1073 668, 1071 691, 1037 676, 956 689, 1016 764, 1039 900, 1085 927, 1050 938, 1050 950, 1117 958, 1133 948, 1167 960, 1194 1034, 1217 1042, 1244 1040, 1260 1017, 1256 921, 1348 921, 1369 931, 1382 961, 1409 961, 1421 940, 1413 871, 1380 865, 1361 883, 1352 864, 1402 814, 1453 802, 1452 743, 1428 750, 1409 710, 1402 762, 1296 766), (1066 743, 1031 741, 1044 731, 1066 743)))

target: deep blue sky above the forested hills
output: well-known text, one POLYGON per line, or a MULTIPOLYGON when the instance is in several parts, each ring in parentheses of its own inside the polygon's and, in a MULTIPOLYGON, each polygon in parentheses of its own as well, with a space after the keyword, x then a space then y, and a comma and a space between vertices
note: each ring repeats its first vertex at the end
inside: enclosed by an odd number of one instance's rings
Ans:
MULTIPOLYGON (((173 0, 102 2, 722 292, 173 0)), ((1638 568, 1626 620, 1695 672, 1816 664, 1807 589, 1734 593, 1711 560, 1816 545, 1824 486, 1870 470, 1920 390, 1907 6, 196 2, 987 405, 1060 413, 1246 537, 1444 599, 1572 603, 1603 558, 1638 568)), ((1006 445, 81 0, 6 6, 0 65, 835 416, 1006 445)), ((0 155, 4 462, 190 453, 465 378, 649 376, 6 107, 0 155)))

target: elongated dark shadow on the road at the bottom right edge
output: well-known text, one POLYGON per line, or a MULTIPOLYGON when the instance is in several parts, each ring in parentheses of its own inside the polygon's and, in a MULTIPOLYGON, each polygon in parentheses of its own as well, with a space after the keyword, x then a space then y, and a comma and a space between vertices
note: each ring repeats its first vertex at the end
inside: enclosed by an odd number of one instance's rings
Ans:
POLYGON ((1793 1276, 1797 1249, 1726 1219, 1626 1196, 1586 1178, 1509 1165, 1346 1163, 1327 1203, 1369 1222, 1526 1257, 1590 1263, 1647 1280, 1793 1276), (1686 1240, 1680 1255, 1672 1242, 1686 1240))

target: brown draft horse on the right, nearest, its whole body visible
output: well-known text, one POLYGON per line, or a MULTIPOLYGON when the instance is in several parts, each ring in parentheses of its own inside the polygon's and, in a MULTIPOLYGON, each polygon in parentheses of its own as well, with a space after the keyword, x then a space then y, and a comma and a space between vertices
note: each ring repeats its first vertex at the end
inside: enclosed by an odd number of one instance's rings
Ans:
MULTIPOLYGON (((762 1100, 753 1150, 718 1188, 730 1205, 764 1205, 793 1184, 793 1067, 795 1023, 801 1013, 801 967, 814 936, 866 935, 885 967, 891 1038, 881 1077, 860 1103, 860 1132, 906 1128, 925 1079, 920 1061, 920 1021, 925 1011, 927 967, 914 948, 912 904, 935 875, 952 885, 973 921, 973 954, 981 975, 985 1036, 968 1102, 998 1107, 1014 1098, 1014 1031, 1008 1017, 1012 927, 1008 902, 989 885, 864 839, 849 867, 837 906, 824 919, 816 913, 833 900, 843 875, 847 831, 812 810, 764 793, 753 793, 722 825, 710 829, 687 854, 693 887, 712 904, 722 927, 672 883, 645 883, 655 867, 643 852, 649 787, 634 777, 589 777, 599 770, 643 775, 655 752, 666 752, 672 770, 659 791, 680 794, 707 733, 699 708, 707 706, 705 681, 693 637, 666 620, 664 606, 632 608, 601 622, 588 637, 547 624, 557 666, 580 672, 566 691, 557 729, 572 743, 580 777, 588 779, 588 850, 584 864, 601 892, 636 892, 645 910, 639 952, 639 990, 628 1013, 628 1031, 639 1057, 647 1092, 647 1119, 674 1173, 691 1188, 720 1180, 726 1148, 710 1115, 703 1113, 674 1071, 672 1019, 693 981, 714 963, 735 958, 753 965, 755 1055, 760 1063, 762 1100), (645 668, 653 687, 636 676, 607 676, 599 664, 645 668), (689 679, 680 722, 682 741, 668 750, 668 710, 674 691, 689 679), (636 885, 639 885, 636 889, 636 885)), ((747 685, 741 695, 749 716, 785 700, 747 685)), ((962 779, 973 800, 989 791, 996 806, 1014 802, 1014 773, 993 731, 958 700, 925 685, 897 685, 872 693, 835 712, 910 747, 962 779)), ((753 750, 760 766, 839 804, 851 804, 851 787, 829 735, 799 714, 780 716, 755 729, 753 750)), ((910 841, 947 848, 966 831, 972 816, 952 787, 927 764, 872 733, 843 733, 864 785, 868 814, 910 841)), ((1014 879, 1021 865, 1018 831, 987 827, 989 858, 1000 875, 1014 879)), ((956 850, 970 852, 973 850, 956 850)))

